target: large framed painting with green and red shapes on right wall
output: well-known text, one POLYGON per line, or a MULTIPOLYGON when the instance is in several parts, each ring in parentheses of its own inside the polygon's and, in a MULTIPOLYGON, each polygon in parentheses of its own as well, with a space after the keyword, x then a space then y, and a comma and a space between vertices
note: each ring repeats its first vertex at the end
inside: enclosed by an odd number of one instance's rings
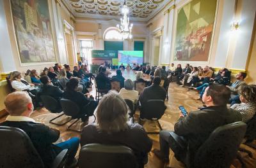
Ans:
POLYGON ((175 61, 208 61, 217 0, 192 0, 177 10, 175 61))

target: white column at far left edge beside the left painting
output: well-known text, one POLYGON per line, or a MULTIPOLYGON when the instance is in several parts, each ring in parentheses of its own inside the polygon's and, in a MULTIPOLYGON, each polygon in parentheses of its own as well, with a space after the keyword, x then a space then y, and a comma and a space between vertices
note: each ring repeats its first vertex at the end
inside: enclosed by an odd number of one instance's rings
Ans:
POLYGON ((6 22, 3 0, 0 0, 0 30, 0 71, 15 71, 16 66, 13 59, 12 46, 6 22))

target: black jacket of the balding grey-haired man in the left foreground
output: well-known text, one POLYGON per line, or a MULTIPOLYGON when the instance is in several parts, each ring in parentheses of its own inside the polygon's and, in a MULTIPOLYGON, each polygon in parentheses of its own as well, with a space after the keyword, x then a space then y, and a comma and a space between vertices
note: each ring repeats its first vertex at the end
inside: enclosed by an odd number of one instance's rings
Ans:
POLYGON ((58 130, 51 129, 42 123, 6 121, 0 123, 0 125, 16 127, 24 130, 24 132, 26 132, 26 134, 28 134, 30 137, 31 142, 42 158, 45 167, 51 167, 57 153, 61 151, 58 146, 52 144, 58 140, 60 137, 60 132, 58 130))

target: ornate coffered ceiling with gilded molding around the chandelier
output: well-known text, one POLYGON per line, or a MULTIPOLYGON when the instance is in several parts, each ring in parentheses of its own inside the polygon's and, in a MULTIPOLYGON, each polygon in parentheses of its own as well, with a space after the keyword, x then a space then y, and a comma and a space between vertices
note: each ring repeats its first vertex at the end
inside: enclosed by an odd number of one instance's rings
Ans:
MULTIPOLYGON (((124 0, 62 0, 76 17, 120 19, 124 0)), ((173 0, 127 0, 131 20, 148 21, 173 0)))

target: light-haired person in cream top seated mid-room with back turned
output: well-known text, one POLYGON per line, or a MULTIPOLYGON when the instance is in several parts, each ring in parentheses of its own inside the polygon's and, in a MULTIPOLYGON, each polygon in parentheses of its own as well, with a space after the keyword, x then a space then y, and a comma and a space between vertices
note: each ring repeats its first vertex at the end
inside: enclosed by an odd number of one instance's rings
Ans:
POLYGON ((120 90, 119 95, 123 99, 129 99, 132 102, 135 102, 136 100, 138 100, 139 92, 134 90, 134 84, 133 84, 132 80, 127 79, 127 80, 125 80, 124 88, 122 88, 120 90))

